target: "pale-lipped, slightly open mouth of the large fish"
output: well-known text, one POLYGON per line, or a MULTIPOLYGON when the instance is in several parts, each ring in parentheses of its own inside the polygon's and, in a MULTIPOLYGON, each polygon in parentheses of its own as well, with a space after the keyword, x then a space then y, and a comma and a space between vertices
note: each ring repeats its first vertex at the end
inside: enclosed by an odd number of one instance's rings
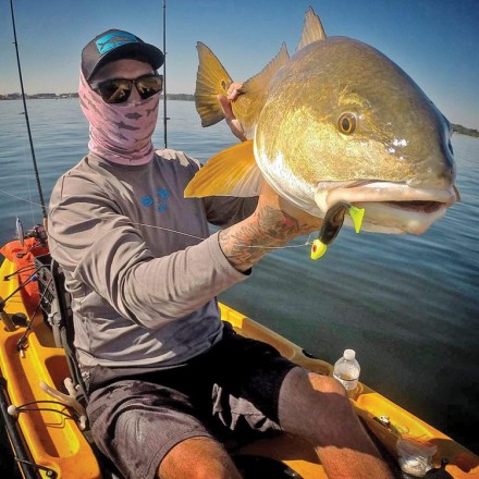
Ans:
MULTIPOLYGON (((322 182, 315 201, 321 212, 337 202, 365 209, 364 231, 421 234, 459 200, 454 185, 446 188, 415 187, 384 181, 322 182)), ((346 217, 345 224, 352 225, 346 217)))

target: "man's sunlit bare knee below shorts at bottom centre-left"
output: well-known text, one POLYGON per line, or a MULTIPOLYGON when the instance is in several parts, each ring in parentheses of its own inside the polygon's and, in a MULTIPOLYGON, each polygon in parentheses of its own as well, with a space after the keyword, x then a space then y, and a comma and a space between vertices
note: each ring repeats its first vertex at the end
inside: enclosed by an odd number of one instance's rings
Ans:
POLYGON ((161 479, 241 479, 224 447, 210 438, 191 438, 176 444, 159 469, 161 479))

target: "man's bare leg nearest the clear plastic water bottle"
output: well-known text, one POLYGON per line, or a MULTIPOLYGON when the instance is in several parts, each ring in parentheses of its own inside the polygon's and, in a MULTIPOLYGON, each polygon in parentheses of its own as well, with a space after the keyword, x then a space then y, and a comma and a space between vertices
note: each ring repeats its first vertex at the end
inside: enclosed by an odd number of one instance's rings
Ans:
POLYGON ((334 378, 292 369, 279 409, 281 427, 312 442, 330 479, 392 478, 334 378))

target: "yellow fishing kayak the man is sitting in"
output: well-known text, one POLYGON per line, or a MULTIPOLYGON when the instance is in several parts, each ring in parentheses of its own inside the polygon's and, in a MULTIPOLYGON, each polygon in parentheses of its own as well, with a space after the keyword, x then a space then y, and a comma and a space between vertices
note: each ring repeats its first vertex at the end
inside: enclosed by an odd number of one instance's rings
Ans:
MULTIPOLYGON (((9 245, 11 253, 15 244, 9 245)), ((20 245, 15 247, 21 248, 20 245)), ((27 246, 24 248, 26 250, 27 246)), ((65 383, 65 379, 72 373, 65 352, 58 346, 45 315, 48 310, 45 304, 51 299, 49 256, 45 255, 45 250, 38 250, 44 256, 37 256, 37 266, 38 259, 41 259, 40 265, 45 267, 36 271, 39 281, 34 284, 40 287, 26 295, 19 286, 21 281, 33 284, 28 278, 34 272, 35 250, 32 246, 28 248, 29 253, 34 253, 29 259, 23 256, 22 265, 14 259, 19 256, 15 254, 11 259, 5 258, 0 267, 1 413, 19 469, 25 478, 114 477, 106 474, 101 457, 91 446, 79 403, 73 401, 69 404, 62 400, 64 396, 57 393, 67 395, 70 382, 65 383), (29 272, 28 261, 32 263, 29 272), (19 269, 23 277, 17 273, 19 269), (42 307, 36 307, 38 303, 42 307)), ((222 319, 231 322, 241 334, 272 344, 284 356, 310 370, 332 374, 332 365, 310 357, 296 344, 253 319, 226 305, 221 305, 221 312, 222 319)), ((437 472, 442 469, 441 472, 447 475, 435 477, 479 478, 479 457, 476 454, 378 392, 359 383, 351 401, 378 445, 393 463, 398 458, 398 441, 406 441, 433 451, 432 470, 428 475, 434 469, 437 472)), ((238 467, 244 465, 244 470, 249 471, 245 472, 246 478, 327 478, 310 444, 292 435, 256 441, 233 454, 238 459, 238 467)), ((410 457, 410 460, 415 458, 410 457)), ((401 470, 397 464, 396 467, 401 470)))

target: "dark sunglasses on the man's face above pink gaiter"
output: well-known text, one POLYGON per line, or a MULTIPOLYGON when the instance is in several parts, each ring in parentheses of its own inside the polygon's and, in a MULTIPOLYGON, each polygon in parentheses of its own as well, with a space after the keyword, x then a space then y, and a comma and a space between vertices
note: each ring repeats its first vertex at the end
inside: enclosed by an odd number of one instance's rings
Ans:
POLYGON ((163 89, 163 76, 150 73, 135 79, 106 79, 105 82, 91 83, 90 87, 101 96, 106 103, 124 103, 130 98, 133 85, 142 99, 145 100, 163 89))

